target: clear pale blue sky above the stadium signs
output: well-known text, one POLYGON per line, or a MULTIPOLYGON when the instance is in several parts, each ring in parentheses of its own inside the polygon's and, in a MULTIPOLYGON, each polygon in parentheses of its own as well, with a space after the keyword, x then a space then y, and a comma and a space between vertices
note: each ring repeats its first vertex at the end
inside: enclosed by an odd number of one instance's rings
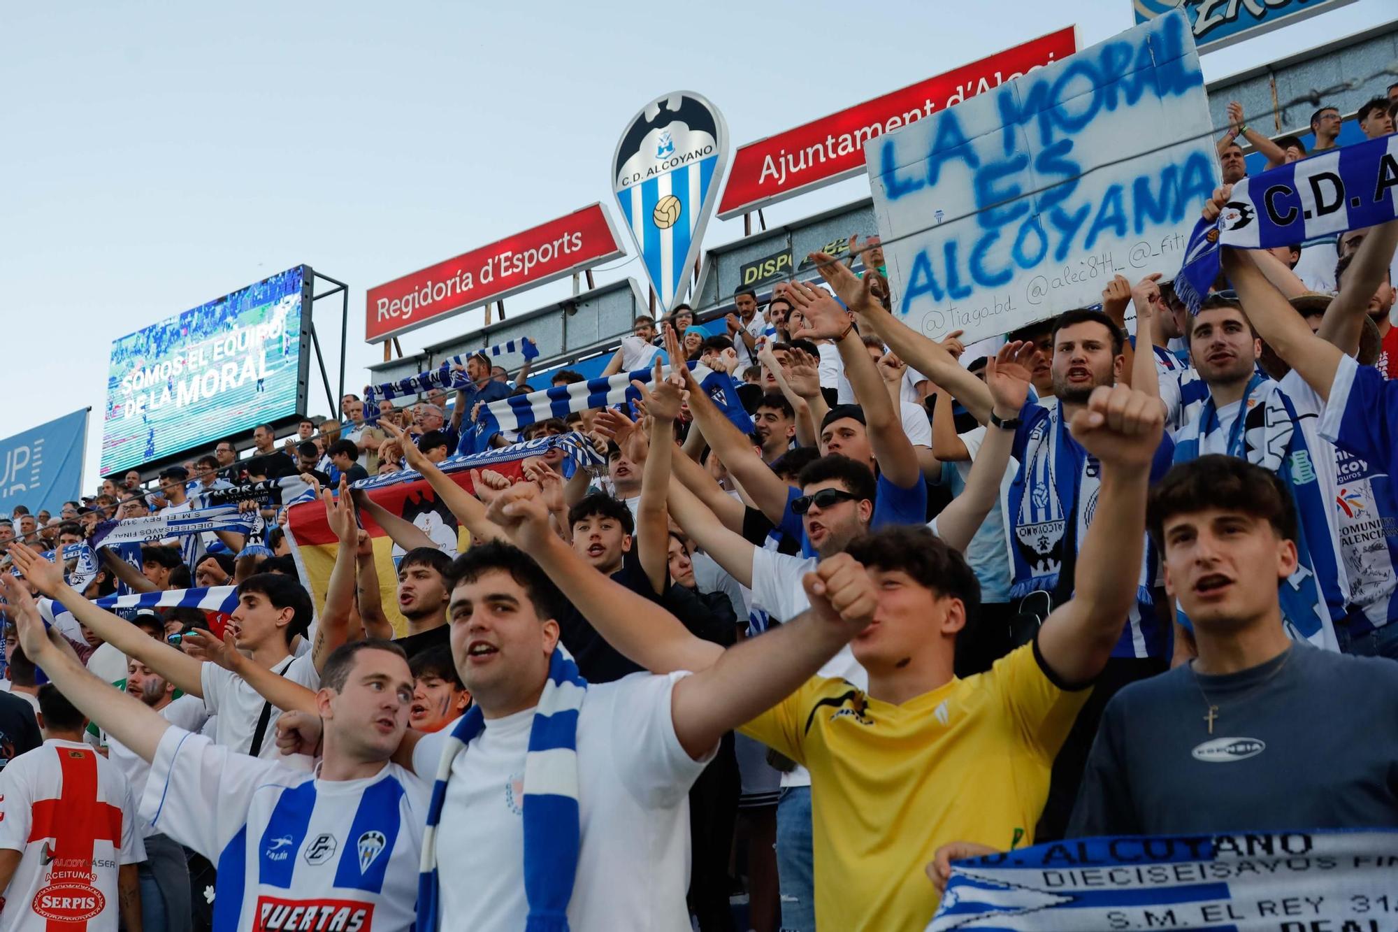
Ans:
MULTIPOLYGON (((1205 77, 1392 15, 1391 0, 1356 0, 1206 55, 1205 77)), ((705 94, 738 146, 1072 24, 1079 48, 1100 42, 1132 25, 1131 0, 11 4, 0 437, 88 404, 99 418, 115 337, 302 262, 351 285, 356 390, 382 360, 363 343, 366 287, 591 202, 617 216, 608 160, 650 98, 705 94)), ((846 181, 768 223, 867 193, 846 181)), ((713 221, 706 243, 741 235, 741 218, 713 221)), ((642 276, 625 262, 598 281, 642 276)), ((323 304, 334 385, 340 318, 323 304)), ((470 311, 403 348, 481 322, 470 311)), ((309 409, 330 411, 319 375, 309 409)), ((99 446, 96 420, 85 491, 99 446)))

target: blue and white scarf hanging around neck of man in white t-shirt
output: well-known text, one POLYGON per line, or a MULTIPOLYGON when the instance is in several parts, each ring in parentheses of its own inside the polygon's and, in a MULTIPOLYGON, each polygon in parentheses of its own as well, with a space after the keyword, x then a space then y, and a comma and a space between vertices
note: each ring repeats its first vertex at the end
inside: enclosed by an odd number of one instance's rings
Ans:
MULTIPOLYGON (((577 809, 577 716, 587 696, 587 680, 562 645, 548 661, 548 680, 534 708, 528 754, 524 758, 524 896, 528 900, 526 932, 568 932, 568 903, 573 898, 582 828, 577 809)), ((446 802, 452 764, 468 751, 485 728, 480 705, 456 723, 438 761, 436 782, 428 803, 422 834, 422 869, 418 877, 418 922, 422 932, 442 925, 440 877, 436 834, 446 802)), ((470 813, 467 813, 470 817, 470 813)))

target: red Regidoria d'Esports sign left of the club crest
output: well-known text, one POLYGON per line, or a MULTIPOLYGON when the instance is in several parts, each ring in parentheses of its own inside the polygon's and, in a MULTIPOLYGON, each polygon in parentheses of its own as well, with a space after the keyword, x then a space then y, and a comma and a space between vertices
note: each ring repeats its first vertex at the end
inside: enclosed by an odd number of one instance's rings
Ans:
POLYGON ((363 339, 379 343, 624 255, 611 217, 591 204, 369 288, 363 339))

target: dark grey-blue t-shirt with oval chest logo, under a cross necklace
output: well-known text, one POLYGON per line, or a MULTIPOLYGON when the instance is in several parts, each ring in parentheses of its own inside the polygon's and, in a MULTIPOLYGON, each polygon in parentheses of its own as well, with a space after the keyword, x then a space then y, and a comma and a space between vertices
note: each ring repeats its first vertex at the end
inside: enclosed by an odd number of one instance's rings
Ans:
POLYGON ((1107 702, 1068 834, 1398 826, 1394 709, 1398 663, 1306 645, 1132 683, 1107 702))

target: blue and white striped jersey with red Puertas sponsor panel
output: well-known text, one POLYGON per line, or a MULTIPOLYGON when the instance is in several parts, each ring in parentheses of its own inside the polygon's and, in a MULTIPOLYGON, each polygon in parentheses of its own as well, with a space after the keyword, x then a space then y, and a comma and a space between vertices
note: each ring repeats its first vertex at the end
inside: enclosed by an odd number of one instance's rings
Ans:
POLYGON ((400 932, 417 918, 426 785, 384 763, 317 779, 169 728, 141 816, 218 866, 215 925, 239 931, 400 932))

